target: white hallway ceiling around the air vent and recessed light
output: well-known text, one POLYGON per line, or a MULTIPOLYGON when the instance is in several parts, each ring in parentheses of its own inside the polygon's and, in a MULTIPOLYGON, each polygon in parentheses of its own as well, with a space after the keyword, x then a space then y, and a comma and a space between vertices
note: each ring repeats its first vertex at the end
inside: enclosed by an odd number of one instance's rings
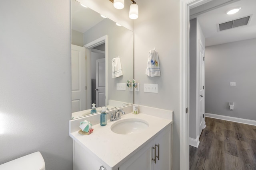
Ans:
POLYGON ((206 38, 206 46, 256 38, 256 0, 212 0, 190 10, 197 18, 206 38), (226 12, 241 7, 236 14, 226 12), (218 31, 218 24, 252 15, 248 25, 218 31))

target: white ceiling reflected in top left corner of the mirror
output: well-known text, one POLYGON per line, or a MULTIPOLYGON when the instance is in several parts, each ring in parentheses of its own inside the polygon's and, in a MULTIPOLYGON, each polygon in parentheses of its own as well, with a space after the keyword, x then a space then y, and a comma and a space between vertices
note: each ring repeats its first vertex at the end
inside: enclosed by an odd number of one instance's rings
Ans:
POLYGON ((71 27, 73 30, 85 33, 102 20, 104 20, 104 18, 94 10, 84 8, 75 0, 71 1, 71 27))

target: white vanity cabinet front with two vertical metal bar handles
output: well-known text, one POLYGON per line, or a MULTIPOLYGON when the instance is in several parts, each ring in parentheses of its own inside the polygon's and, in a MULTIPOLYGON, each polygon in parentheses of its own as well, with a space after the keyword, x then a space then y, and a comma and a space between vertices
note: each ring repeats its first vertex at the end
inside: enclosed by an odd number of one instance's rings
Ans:
POLYGON ((172 125, 124 162, 119 170, 172 170, 172 125), (156 161, 152 160, 155 158, 156 161))

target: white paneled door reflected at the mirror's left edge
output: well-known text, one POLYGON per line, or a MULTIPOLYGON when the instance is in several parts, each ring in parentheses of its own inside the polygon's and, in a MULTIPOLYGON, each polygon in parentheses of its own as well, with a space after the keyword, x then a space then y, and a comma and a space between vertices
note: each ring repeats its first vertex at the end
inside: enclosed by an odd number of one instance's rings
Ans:
POLYGON ((72 113, 86 109, 85 48, 71 46, 72 113))

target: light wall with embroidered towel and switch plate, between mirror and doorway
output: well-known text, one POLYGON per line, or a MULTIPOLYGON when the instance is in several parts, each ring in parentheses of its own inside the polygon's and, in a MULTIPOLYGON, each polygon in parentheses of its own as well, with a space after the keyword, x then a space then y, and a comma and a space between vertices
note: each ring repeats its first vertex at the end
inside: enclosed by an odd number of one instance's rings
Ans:
POLYGON ((180 166, 179 2, 138 0, 139 18, 134 20, 134 78, 140 83, 140 92, 134 92, 134 102, 174 111, 174 170, 180 166), (160 77, 145 74, 148 51, 154 47, 159 55, 160 77), (158 84, 158 94, 144 93, 144 83, 158 84))

